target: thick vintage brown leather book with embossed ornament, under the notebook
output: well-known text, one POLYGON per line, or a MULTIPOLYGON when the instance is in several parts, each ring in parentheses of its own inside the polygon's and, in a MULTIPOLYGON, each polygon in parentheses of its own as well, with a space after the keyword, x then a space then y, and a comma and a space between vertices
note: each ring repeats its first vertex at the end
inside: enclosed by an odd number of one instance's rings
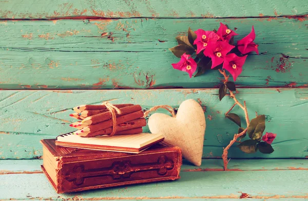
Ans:
POLYGON ((181 149, 165 142, 140 154, 59 147, 54 139, 41 143, 42 169, 57 193, 180 178, 181 149))

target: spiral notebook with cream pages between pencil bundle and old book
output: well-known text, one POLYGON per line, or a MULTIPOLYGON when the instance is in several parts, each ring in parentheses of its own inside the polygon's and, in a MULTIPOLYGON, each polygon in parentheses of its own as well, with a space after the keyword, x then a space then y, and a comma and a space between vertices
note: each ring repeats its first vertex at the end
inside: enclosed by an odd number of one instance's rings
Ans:
POLYGON ((162 134, 139 133, 133 135, 114 135, 81 137, 72 133, 57 136, 55 145, 89 150, 124 152, 138 154, 151 145, 164 140, 162 134))

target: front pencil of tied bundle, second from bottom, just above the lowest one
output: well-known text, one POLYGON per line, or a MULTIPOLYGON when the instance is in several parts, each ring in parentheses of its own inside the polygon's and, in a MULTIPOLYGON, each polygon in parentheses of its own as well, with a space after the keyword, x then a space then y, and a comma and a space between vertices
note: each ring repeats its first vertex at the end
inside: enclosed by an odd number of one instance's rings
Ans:
MULTIPOLYGON (((132 121, 134 119, 139 119, 143 117, 143 112, 142 111, 138 111, 138 112, 134 112, 134 113, 129 113, 127 115, 122 115, 120 117, 117 117, 117 125, 121 124, 121 123, 125 123, 128 121, 132 121)), ((107 127, 111 127, 113 125, 113 121, 112 119, 109 119, 107 121, 103 121, 97 124, 91 124, 87 127, 85 127, 84 129, 82 129, 81 132, 95 132, 95 131, 99 131, 102 129, 106 129, 107 127)))

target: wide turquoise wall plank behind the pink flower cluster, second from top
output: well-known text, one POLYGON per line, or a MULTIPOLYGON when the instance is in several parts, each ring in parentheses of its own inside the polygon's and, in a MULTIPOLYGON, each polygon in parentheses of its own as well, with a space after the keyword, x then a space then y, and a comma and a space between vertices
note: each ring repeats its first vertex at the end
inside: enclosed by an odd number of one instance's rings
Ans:
POLYGON ((179 59, 168 48, 189 26, 213 30, 220 22, 236 27, 237 39, 255 26, 260 55, 248 57, 239 86, 307 86, 305 22, 278 17, 3 21, 0 88, 217 87, 218 71, 189 79, 173 69, 179 59))

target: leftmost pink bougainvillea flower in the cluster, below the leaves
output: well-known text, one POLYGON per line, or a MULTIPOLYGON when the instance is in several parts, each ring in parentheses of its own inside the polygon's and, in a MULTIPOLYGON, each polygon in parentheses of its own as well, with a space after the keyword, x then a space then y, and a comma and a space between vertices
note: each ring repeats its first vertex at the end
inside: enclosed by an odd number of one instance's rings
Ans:
POLYGON ((192 74, 197 69, 197 63, 194 59, 190 57, 190 54, 183 53, 181 56, 181 60, 176 64, 171 64, 174 69, 185 71, 189 74, 189 77, 191 78, 192 74), (189 58, 189 59, 188 59, 189 58))

